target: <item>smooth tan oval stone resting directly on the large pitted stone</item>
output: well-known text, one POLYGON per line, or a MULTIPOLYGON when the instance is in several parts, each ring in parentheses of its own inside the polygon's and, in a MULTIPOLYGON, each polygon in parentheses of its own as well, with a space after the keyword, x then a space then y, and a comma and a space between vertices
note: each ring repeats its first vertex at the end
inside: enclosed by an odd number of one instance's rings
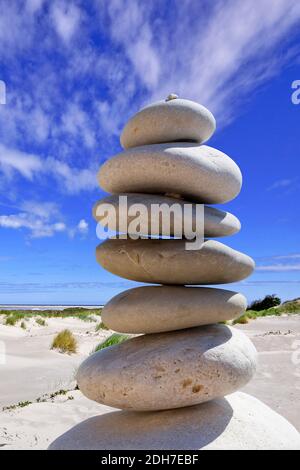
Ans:
POLYGON ((147 286, 113 297, 101 318, 110 329, 121 333, 161 333, 232 320, 246 308, 246 298, 228 290, 147 286))

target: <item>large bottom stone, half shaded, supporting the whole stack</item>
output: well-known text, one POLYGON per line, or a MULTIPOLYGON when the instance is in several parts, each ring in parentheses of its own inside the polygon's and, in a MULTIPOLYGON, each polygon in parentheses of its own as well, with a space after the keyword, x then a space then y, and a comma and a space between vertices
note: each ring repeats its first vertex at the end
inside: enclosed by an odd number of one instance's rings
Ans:
POLYGON ((241 392, 158 413, 98 408, 97 416, 73 426, 49 449, 300 450, 300 435, 294 426, 241 392))

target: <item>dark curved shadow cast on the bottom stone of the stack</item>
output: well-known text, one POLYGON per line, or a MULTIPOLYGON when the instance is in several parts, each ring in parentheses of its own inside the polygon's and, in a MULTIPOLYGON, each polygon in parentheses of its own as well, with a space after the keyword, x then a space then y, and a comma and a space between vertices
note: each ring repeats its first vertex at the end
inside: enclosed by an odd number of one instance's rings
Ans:
POLYGON ((233 410, 225 398, 167 411, 114 411, 58 437, 50 450, 198 450, 225 430, 233 410))

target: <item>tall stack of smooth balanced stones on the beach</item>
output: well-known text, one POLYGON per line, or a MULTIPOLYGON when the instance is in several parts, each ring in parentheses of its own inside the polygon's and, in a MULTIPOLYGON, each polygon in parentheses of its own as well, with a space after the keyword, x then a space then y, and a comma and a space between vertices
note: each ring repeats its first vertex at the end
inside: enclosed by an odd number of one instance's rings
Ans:
MULTIPOLYGON (((130 222, 131 216, 121 213, 119 195, 127 196, 128 207, 142 203, 148 208, 151 204, 165 203, 171 207, 174 203, 219 204, 232 200, 241 189, 241 172, 227 155, 203 145, 214 131, 215 119, 206 108, 176 95, 142 109, 123 130, 121 144, 124 151, 107 161, 100 170, 100 186, 112 195, 96 205, 96 218, 99 205, 110 203, 119 217, 126 217, 130 222)), ((195 212, 191 217, 194 216, 195 212)), ((145 217, 143 231, 149 235, 151 220, 145 217)), ((264 405, 259 404, 259 408, 251 397, 234 392, 253 376, 256 350, 240 330, 224 322, 244 312, 246 299, 229 290, 195 287, 236 282, 252 273, 254 262, 249 256, 219 241, 207 239, 232 235, 239 230, 240 222, 234 215, 207 205, 204 209, 205 241, 197 250, 187 250, 184 238, 166 239, 162 226, 156 239, 108 239, 98 246, 97 260, 106 270, 125 279, 152 285, 122 292, 105 306, 102 319, 109 328, 138 336, 101 350, 83 362, 77 379, 86 397, 122 410, 172 410, 168 412, 168 418, 160 413, 157 415, 158 423, 164 428, 166 421, 163 424, 160 420, 166 419, 170 423, 173 416, 176 421, 179 416, 176 408, 211 400, 214 400, 211 403, 218 403, 215 399, 233 394, 228 403, 234 403, 232 406, 238 411, 232 412, 231 416, 238 413, 235 418, 240 423, 238 433, 245 436, 245 423, 259 420, 264 405), (245 407, 252 410, 252 415, 249 410, 246 415, 239 414, 239 409, 245 411, 245 407)), ((209 427, 211 413, 212 427, 207 430, 207 435, 211 436, 217 429, 215 420, 223 419, 224 407, 220 407, 216 418, 213 406, 217 405, 203 406, 200 409, 193 407, 193 416, 203 419, 209 427)), ((193 408, 186 408, 188 419, 191 419, 188 410, 193 408)), ((180 413, 179 420, 185 412, 180 413)), ((138 417, 143 414, 129 415, 130 429, 133 421, 146 419, 138 417)), ((124 419, 124 416, 120 417, 122 425, 124 419)), ((154 422, 151 423, 148 424, 155 428, 154 422)), ((180 433, 188 432, 188 425, 186 423, 180 433)), ((116 420, 112 426, 118 432, 116 420)), ((176 428, 176 423, 174 426, 176 428)), ((105 426, 105 432, 108 427, 105 426)), ((159 427, 157 425, 157 432, 161 432, 159 427)), ((92 448, 117 448, 114 447, 116 436, 112 438, 114 443, 109 444, 103 432, 100 432, 102 437, 97 438, 94 431, 90 431, 92 448), (96 445, 95 439, 98 439, 96 445)), ((262 434, 270 436, 271 430, 265 423, 261 425, 261 433, 257 435, 257 429, 255 432, 255 436, 252 433, 251 439, 255 441, 252 447, 259 447, 262 434)), ((156 440, 156 444, 144 446, 164 448, 164 445, 172 445, 171 448, 178 446, 180 449, 183 444, 178 429, 174 433, 172 444, 170 441, 164 444, 162 439, 161 444, 156 440), (174 443, 174 439, 178 442, 174 443)), ((79 440, 83 434, 83 430, 79 432, 79 440)), ((138 448, 139 439, 140 431, 128 446, 138 448)), ((295 444, 295 435, 291 439, 295 444)), ((193 445, 197 448, 201 442, 200 439, 199 444, 193 445)), ((223 445, 224 442, 226 438, 223 445)), ((118 448, 126 448, 126 444, 122 445, 118 448)), ((228 437, 227 446, 230 447, 228 437)), ((240 447, 243 448, 243 444, 240 447)))

